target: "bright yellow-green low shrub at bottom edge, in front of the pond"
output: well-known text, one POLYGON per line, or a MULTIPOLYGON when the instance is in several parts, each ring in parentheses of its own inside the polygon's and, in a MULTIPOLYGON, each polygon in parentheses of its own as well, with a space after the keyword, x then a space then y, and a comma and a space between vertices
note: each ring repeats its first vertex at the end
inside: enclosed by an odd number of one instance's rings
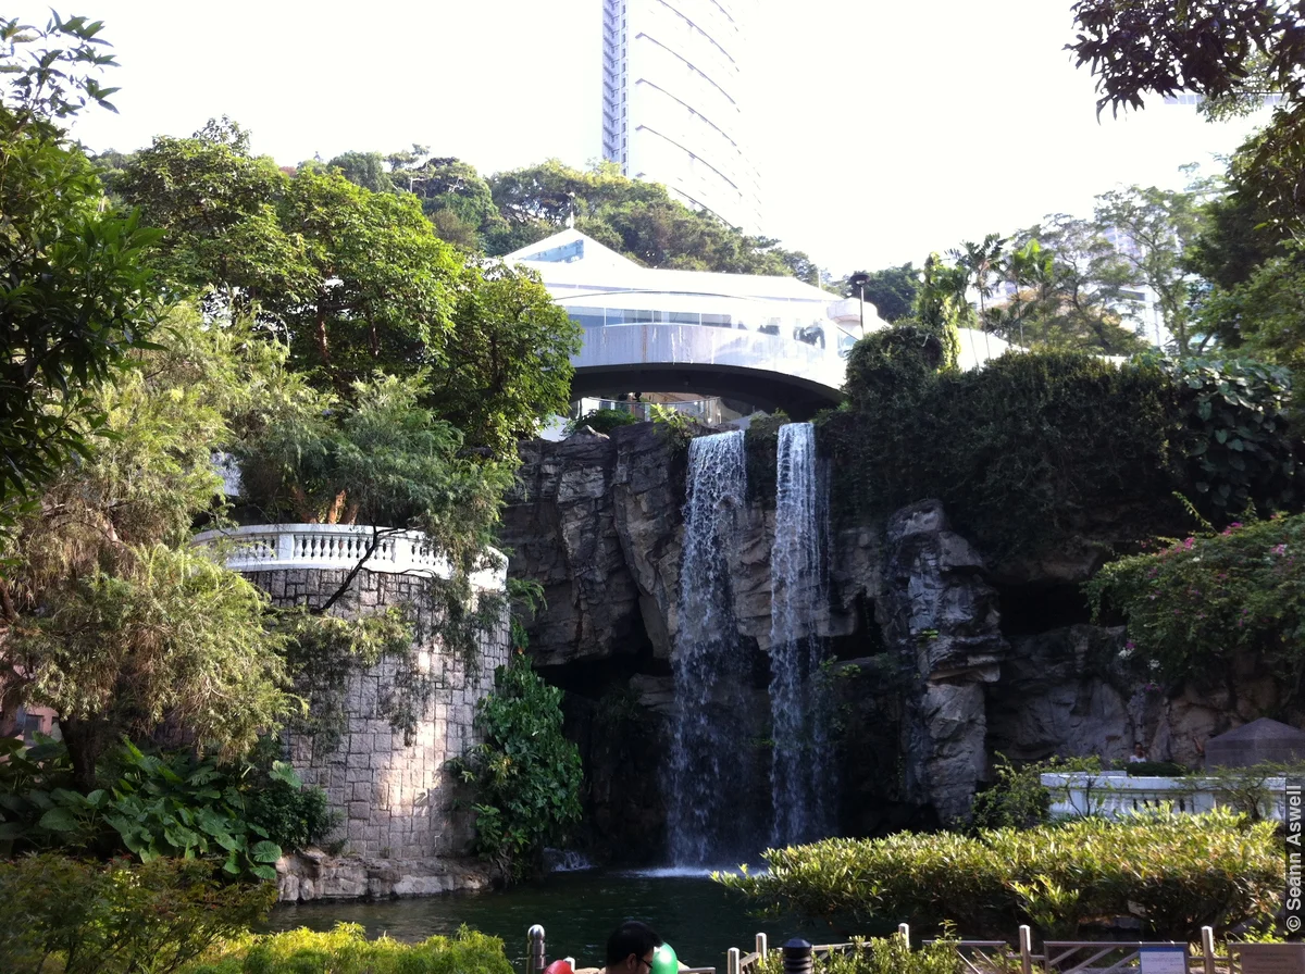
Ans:
POLYGON ((326 934, 291 930, 219 945, 187 974, 512 974, 502 940, 462 927, 454 936, 403 944, 368 940, 356 923, 326 934))

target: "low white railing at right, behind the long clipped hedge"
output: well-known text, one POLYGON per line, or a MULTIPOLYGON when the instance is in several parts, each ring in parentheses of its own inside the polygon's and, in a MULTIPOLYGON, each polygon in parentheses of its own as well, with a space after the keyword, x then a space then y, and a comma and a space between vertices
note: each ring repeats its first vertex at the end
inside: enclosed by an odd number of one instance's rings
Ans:
MULTIPOLYGON (((1052 793, 1053 816, 1101 815, 1118 819, 1148 808, 1169 807, 1177 812, 1198 815, 1223 804, 1219 782, 1206 777, 1129 777, 1125 772, 1045 773, 1043 786, 1052 793)), ((1261 812, 1283 820, 1287 803, 1287 781, 1282 776, 1266 777, 1267 801, 1261 812)))

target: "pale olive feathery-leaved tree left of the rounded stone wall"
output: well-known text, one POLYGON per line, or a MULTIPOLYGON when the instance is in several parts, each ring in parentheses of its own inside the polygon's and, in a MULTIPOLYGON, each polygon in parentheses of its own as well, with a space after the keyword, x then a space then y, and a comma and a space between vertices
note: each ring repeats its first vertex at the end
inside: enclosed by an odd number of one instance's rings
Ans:
POLYGON ((168 718, 235 752, 288 703, 265 597, 189 549, 222 492, 211 450, 264 346, 184 308, 166 329, 167 346, 87 391, 104 416, 90 459, 65 464, 22 518, 0 579, 5 709, 54 707, 86 788, 125 733, 168 718))

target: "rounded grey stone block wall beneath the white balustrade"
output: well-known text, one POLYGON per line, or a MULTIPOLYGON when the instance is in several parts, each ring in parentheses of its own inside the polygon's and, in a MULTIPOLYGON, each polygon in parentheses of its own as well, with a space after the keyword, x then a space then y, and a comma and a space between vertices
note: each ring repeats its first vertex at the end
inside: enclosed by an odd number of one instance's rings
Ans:
MULTIPOLYGON (((288 568, 248 572, 278 606, 324 604, 345 583, 343 570, 288 568)), ((309 735, 291 734, 290 755, 305 784, 321 786, 342 816, 331 836, 345 851, 364 859, 420 861, 466 854, 474 812, 463 789, 446 771, 449 759, 479 743, 472 720, 480 698, 493 690, 495 668, 508 662, 508 612, 480 639, 474 666, 446 652, 431 635, 437 612, 420 578, 359 571, 333 615, 406 605, 416 623, 419 662, 435 678, 435 692, 406 745, 382 713, 394 664, 355 671, 346 696, 347 726, 333 750, 309 735), (458 807, 455 807, 458 806, 458 807)))

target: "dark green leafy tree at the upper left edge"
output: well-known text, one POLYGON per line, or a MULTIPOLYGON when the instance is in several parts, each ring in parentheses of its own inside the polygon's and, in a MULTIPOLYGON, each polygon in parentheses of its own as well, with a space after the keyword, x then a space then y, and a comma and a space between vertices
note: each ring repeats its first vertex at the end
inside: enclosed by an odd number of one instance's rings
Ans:
POLYGON ((94 77, 114 64, 100 27, 0 20, 0 529, 14 498, 87 452, 104 421, 87 390, 154 321, 144 253, 157 235, 102 210, 99 180, 61 128, 89 103, 112 107, 94 77))

